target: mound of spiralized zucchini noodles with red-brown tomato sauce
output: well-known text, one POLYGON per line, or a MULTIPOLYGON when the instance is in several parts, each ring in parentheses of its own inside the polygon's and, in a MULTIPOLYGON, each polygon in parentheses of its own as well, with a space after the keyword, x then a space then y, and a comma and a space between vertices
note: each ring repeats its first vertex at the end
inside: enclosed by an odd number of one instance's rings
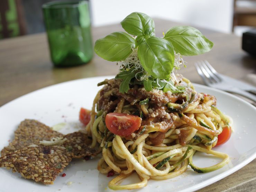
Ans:
POLYGON ((232 126, 232 120, 216 108, 213 95, 197 93, 182 75, 176 75, 174 84, 185 86, 182 93, 146 91, 143 85, 136 84, 122 94, 119 92, 121 82, 120 79, 104 81, 106 85, 94 99, 91 121, 86 126, 92 147, 99 143, 102 150, 98 170, 118 175, 109 182, 110 189, 143 188, 149 179, 166 180, 181 175, 188 165, 204 173, 229 162, 227 154, 212 150, 222 128, 232 126), (138 115, 142 118, 140 128, 129 136, 114 135, 104 123, 111 112, 138 115), (210 167, 197 167, 192 162, 197 151, 219 156, 223 161, 210 167), (117 184, 134 171, 141 181, 117 184))

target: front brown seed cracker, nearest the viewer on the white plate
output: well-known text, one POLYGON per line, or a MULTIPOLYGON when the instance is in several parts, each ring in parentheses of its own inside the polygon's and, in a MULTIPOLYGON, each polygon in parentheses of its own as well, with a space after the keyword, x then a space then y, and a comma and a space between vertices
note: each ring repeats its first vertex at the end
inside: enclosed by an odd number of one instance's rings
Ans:
POLYGON ((0 166, 20 173, 25 179, 53 184, 72 159, 65 152, 63 146, 25 147, 0 157, 0 166))

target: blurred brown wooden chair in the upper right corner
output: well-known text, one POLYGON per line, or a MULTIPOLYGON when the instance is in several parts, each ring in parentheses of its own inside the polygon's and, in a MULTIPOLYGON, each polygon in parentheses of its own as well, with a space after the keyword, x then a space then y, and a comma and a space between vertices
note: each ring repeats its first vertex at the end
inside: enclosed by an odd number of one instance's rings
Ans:
MULTIPOLYGON (((252 7, 238 7, 236 4, 237 0, 234 0, 234 18, 233 18, 233 28, 234 32, 235 26, 253 26, 256 27, 256 8, 252 7)), ((256 0, 247 0, 254 1, 256 0)))

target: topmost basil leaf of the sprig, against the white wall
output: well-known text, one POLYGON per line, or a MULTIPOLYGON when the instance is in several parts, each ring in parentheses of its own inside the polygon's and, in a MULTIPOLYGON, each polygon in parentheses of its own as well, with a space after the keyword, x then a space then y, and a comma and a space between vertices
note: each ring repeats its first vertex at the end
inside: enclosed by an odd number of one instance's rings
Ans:
POLYGON ((153 27, 155 23, 151 17, 145 13, 133 12, 121 21, 122 28, 131 35, 145 35, 146 29, 153 27))

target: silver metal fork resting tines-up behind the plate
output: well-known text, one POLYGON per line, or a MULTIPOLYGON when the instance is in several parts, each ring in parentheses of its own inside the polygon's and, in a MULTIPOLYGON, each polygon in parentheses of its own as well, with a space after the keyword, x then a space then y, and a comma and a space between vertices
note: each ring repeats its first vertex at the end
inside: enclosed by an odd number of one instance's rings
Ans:
POLYGON ((221 75, 210 65, 208 61, 200 61, 194 64, 198 74, 202 77, 203 82, 210 87, 217 88, 226 92, 242 95, 256 102, 256 95, 246 92, 225 82, 221 75))

